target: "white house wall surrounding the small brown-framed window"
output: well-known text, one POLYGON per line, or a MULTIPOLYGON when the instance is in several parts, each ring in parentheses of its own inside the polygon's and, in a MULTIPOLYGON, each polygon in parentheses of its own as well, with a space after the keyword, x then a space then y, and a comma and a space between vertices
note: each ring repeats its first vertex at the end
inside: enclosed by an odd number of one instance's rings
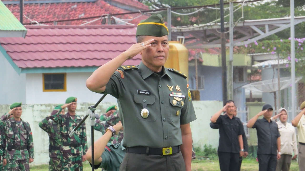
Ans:
MULTIPOLYGON (((27 104, 56 104, 64 103, 70 96, 77 97, 78 103, 96 103, 102 94, 91 92, 86 87, 86 80, 91 72, 67 73, 67 91, 66 92, 43 92, 42 91, 42 73, 27 74, 26 76, 26 103, 27 104)), ((107 95, 103 102, 117 103, 117 99, 107 95)), ((5 103, 7 104, 7 103, 5 103)))

